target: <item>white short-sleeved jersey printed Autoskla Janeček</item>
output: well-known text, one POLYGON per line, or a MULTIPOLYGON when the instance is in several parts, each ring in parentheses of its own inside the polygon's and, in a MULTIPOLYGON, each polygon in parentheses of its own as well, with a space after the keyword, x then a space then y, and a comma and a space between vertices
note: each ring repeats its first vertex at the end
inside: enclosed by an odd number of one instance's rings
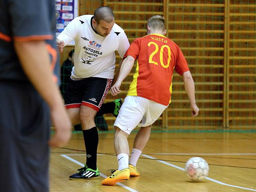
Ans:
POLYGON ((87 77, 113 79, 115 51, 123 58, 130 46, 124 30, 116 23, 110 34, 102 37, 92 28, 92 19, 93 15, 76 17, 57 37, 65 46, 75 39, 73 80, 87 77))

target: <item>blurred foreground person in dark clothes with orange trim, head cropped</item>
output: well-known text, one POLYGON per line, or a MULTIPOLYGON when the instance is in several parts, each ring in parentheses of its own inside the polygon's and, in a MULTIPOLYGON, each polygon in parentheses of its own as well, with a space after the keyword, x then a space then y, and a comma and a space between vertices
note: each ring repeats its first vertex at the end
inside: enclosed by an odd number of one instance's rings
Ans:
POLYGON ((49 145, 71 137, 57 85, 55 3, 5 0, 0 14, 0 191, 47 192, 49 145))

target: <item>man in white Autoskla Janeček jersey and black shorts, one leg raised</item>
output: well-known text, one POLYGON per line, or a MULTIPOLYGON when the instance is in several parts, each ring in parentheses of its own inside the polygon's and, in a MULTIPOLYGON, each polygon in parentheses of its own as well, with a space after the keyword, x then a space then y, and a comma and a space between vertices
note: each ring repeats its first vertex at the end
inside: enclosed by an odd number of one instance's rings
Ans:
POLYGON ((82 124, 86 164, 69 179, 99 179, 96 165, 99 137, 94 117, 118 114, 120 99, 101 105, 114 78, 115 51, 123 58, 130 44, 107 6, 96 9, 94 15, 82 15, 72 20, 57 37, 59 52, 72 40, 75 40, 74 67, 64 99, 72 123, 82 124))

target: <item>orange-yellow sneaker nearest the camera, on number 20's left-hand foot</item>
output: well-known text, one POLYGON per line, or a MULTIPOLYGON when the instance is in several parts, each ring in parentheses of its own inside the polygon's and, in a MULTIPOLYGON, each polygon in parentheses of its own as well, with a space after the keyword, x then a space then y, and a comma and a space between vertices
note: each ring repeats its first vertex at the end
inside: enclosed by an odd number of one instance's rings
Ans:
POLYGON ((101 185, 115 185, 118 182, 126 181, 130 178, 129 168, 123 170, 111 170, 111 175, 101 181, 101 185))

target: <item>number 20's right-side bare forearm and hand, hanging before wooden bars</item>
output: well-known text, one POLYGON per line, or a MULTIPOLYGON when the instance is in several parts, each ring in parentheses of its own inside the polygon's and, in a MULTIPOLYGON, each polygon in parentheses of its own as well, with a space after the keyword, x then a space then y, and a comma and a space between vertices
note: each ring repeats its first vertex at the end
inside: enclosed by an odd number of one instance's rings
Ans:
POLYGON ((188 94, 190 108, 192 110, 192 116, 195 117, 198 115, 199 108, 196 106, 196 99, 195 99, 195 84, 192 78, 190 71, 186 71, 182 74, 182 78, 184 81, 185 90, 188 94))

